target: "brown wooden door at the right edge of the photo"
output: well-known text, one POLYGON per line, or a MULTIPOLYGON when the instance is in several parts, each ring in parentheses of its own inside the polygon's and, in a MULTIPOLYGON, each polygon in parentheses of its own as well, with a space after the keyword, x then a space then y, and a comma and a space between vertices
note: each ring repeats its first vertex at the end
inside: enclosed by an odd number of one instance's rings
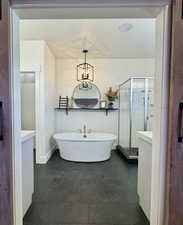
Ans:
POLYGON ((173 0, 166 225, 183 225, 183 0, 173 0))

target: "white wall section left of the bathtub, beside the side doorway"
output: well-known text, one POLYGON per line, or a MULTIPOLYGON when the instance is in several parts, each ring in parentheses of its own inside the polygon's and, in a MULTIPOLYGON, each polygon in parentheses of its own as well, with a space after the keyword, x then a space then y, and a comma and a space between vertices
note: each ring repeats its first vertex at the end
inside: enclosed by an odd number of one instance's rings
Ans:
POLYGON ((20 64, 36 73, 36 161, 46 163, 54 148, 55 57, 45 41, 21 41, 20 64))

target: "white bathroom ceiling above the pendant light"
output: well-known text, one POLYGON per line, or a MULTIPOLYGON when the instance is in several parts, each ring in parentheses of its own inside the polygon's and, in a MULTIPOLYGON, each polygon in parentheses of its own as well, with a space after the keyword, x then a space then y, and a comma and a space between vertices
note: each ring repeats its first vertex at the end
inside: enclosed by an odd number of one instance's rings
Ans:
POLYGON ((22 40, 45 40, 58 58, 153 58, 155 19, 21 20, 22 40))

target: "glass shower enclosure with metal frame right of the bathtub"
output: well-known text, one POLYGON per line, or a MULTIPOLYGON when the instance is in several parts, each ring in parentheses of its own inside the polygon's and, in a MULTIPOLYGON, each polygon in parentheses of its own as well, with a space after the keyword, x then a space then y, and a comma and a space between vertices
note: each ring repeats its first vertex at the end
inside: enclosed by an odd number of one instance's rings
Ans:
POLYGON ((152 130, 153 78, 130 78, 119 86, 118 149, 138 159, 137 131, 152 130))

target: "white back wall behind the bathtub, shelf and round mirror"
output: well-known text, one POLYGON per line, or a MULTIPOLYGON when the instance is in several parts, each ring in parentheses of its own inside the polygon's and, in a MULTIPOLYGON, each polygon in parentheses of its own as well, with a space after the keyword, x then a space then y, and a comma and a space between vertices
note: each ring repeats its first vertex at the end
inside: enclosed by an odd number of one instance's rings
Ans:
MULTIPOLYGON (((102 97, 109 87, 117 88, 129 77, 154 76, 154 59, 89 59, 95 67, 95 84, 101 91, 102 97)), ((56 61, 56 89, 58 96, 72 96, 76 81, 76 65, 82 60, 57 59, 56 61)), ((56 132, 72 131, 82 128, 86 124, 94 131, 118 131, 118 113, 109 112, 56 112, 56 132)))

